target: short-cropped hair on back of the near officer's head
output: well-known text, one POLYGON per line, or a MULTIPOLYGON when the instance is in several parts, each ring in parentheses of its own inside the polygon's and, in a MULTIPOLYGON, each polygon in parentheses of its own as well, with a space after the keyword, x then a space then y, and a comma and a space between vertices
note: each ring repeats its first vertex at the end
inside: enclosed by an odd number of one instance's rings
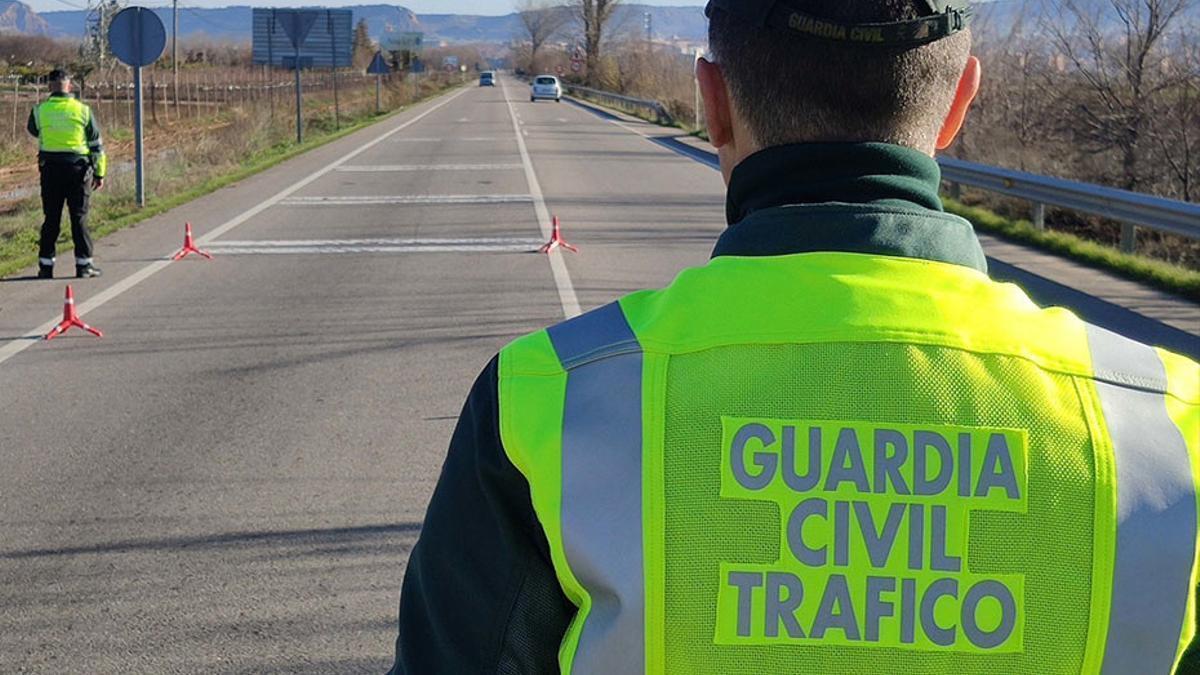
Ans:
MULTIPOLYGON (((793 0, 844 23, 918 17, 912 0, 793 0)), ((881 142, 931 151, 966 67, 965 30, 913 48, 842 44, 763 29, 715 10, 709 48, 733 107, 764 148, 881 142)))

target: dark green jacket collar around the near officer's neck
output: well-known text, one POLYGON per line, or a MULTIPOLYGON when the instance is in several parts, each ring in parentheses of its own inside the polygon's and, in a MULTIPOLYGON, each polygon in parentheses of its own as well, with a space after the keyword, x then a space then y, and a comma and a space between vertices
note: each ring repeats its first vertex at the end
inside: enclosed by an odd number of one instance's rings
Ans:
POLYGON ((845 251, 988 270, 971 223, 942 210, 932 157, 884 143, 768 148, 733 169, 716 256, 845 251))

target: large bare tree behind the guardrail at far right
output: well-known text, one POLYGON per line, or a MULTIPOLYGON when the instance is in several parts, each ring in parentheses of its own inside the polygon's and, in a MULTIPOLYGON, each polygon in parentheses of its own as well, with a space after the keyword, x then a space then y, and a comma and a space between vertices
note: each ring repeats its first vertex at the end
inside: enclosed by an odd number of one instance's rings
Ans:
POLYGON ((1121 187, 1138 190, 1156 101, 1178 84, 1165 74, 1164 36, 1195 0, 1054 0, 1052 6, 1057 17, 1044 23, 1046 36, 1085 89, 1074 106, 1075 131, 1096 153, 1116 150, 1121 187))

